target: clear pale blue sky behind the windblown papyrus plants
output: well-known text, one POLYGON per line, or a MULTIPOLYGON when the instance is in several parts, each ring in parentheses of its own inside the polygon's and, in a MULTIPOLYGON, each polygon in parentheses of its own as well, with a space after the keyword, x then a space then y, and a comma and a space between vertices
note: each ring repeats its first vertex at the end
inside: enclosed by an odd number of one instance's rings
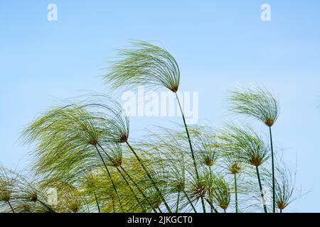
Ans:
MULTIPOLYGON (((320 1, 0 1, 0 163, 28 167, 22 129, 58 99, 109 93, 98 77, 131 39, 162 45, 181 68, 181 90, 198 91, 201 121, 220 126, 236 84, 279 95, 274 140, 310 191, 290 211, 320 211, 320 1), (47 6, 58 6, 58 21, 47 6), (271 5, 272 21, 260 20, 271 5)), ((238 120, 241 118, 237 118, 238 120)), ((178 118, 132 118, 132 130, 178 118)), ((257 124, 265 131, 265 126, 257 124)), ((134 133, 132 133, 134 134, 134 133)))

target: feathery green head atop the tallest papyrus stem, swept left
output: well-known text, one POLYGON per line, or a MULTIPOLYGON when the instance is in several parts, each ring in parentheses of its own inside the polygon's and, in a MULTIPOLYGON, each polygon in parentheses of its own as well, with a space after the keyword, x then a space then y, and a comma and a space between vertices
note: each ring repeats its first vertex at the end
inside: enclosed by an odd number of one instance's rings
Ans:
POLYGON ((162 86, 178 91, 180 72, 174 57, 163 48, 143 41, 132 42, 133 48, 119 50, 119 60, 112 62, 103 75, 114 89, 137 85, 162 86))

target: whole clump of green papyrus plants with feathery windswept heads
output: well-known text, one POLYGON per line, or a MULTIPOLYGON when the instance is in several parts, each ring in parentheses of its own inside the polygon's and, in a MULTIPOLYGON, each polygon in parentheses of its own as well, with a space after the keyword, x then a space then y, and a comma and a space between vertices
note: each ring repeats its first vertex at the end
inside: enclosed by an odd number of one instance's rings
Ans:
MULTIPOLYGON (((105 82, 176 93, 174 57, 150 43, 132 44, 119 50, 105 82)), ((229 101, 232 111, 270 128, 279 115, 277 100, 261 87, 232 92, 229 101)), ((129 118, 110 96, 88 94, 49 109, 23 131, 23 142, 36 146, 33 172, 0 170, 0 212, 260 211, 255 201, 264 199, 262 185, 270 187, 272 146, 251 126, 187 126, 181 114, 183 126, 159 127, 132 142, 129 118), (58 204, 48 204, 49 188, 57 189, 58 204)), ((282 211, 297 196, 283 171, 275 182, 282 211)))

